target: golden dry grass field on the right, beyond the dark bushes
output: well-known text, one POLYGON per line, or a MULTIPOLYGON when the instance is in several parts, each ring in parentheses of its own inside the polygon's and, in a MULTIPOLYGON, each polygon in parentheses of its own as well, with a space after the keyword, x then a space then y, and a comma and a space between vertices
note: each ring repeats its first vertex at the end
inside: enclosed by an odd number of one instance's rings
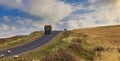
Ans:
POLYGON ((102 52, 95 51, 94 61, 120 61, 120 26, 86 28, 74 30, 88 35, 86 41, 90 48, 102 46, 102 52))

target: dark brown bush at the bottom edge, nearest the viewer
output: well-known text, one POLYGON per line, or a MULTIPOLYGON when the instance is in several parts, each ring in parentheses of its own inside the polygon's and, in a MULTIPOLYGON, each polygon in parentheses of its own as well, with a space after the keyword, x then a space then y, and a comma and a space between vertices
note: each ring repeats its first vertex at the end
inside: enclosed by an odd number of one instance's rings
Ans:
POLYGON ((65 49, 59 48, 45 55, 41 61, 76 61, 75 58, 65 49))

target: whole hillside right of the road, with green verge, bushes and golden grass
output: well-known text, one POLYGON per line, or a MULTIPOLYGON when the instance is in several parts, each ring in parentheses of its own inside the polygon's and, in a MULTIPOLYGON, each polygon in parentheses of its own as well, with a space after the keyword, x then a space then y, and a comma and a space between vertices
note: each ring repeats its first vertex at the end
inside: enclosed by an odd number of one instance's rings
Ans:
POLYGON ((120 26, 61 32, 46 45, 3 61, 120 61, 120 26))

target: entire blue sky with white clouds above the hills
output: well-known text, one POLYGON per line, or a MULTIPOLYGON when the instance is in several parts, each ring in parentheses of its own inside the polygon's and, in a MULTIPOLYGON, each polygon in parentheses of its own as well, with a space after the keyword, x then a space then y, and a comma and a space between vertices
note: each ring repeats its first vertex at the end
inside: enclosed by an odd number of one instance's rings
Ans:
POLYGON ((120 0, 0 0, 0 38, 120 24, 120 0))

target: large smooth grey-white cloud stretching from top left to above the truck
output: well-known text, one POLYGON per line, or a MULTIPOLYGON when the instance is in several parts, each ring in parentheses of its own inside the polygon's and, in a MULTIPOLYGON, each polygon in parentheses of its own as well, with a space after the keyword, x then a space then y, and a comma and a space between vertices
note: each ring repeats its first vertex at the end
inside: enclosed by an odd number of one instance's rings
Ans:
POLYGON ((27 13, 40 16, 43 20, 58 21, 72 12, 72 6, 59 0, 0 0, 0 4, 17 8, 27 13))

